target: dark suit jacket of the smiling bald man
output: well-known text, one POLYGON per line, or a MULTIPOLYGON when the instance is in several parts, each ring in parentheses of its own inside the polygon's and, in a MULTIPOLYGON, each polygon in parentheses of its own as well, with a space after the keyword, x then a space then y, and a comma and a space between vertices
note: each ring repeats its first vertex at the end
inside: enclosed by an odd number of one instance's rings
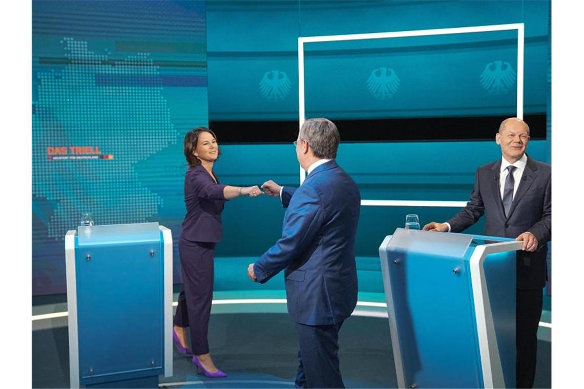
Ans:
POLYGON ((477 169, 470 201, 448 220, 451 232, 470 227, 485 212, 485 235, 516 238, 531 232, 539 247, 533 253, 517 251, 517 288, 542 288, 547 278, 547 242, 551 239, 551 166, 527 157, 507 217, 499 191, 500 167, 501 160, 498 160, 477 169))

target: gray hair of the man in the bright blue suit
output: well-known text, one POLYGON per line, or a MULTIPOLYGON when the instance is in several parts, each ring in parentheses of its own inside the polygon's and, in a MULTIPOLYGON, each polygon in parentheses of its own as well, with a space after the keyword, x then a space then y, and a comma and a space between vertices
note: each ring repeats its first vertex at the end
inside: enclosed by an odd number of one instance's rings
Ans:
POLYGON ((300 128, 298 139, 307 141, 314 156, 324 159, 335 159, 340 143, 339 130, 325 118, 307 119, 300 128))

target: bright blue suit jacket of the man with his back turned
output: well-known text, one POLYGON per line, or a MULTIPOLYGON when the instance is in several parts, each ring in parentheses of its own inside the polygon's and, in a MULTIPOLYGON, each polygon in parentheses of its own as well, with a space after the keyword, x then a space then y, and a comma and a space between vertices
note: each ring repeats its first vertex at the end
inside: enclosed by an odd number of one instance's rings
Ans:
POLYGON ((337 324, 357 303, 357 185, 334 160, 308 174, 297 190, 284 187, 282 237, 254 265, 264 283, 286 268, 288 314, 301 324, 337 324))

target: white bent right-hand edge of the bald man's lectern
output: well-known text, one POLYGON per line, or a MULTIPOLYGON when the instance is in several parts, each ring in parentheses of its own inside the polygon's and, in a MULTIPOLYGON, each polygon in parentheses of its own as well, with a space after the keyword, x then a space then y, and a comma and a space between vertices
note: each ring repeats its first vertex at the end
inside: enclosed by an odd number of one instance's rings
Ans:
POLYGON ((487 255, 504 251, 521 250, 522 242, 507 241, 479 245, 469 260, 471 269, 472 296, 475 304, 477 337, 481 357, 481 369, 485 388, 504 388, 503 367, 499 358, 491 301, 486 285, 484 261, 487 255))

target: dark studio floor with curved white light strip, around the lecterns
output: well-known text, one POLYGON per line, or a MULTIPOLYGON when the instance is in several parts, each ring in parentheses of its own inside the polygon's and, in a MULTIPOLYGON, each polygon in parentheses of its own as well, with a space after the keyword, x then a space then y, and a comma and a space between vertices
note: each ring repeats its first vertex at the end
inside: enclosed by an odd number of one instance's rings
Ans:
MULTIPOLYGON (((294 324, 286 314, 286 304, 223 304, 224 297, 227 296, 215 293, 217 303, 211 311, 209 344, 215 365, 228 376, 207 379, 196 373, 190 358, 175 350, 174 374, 160 376, 159 387, 294 387, 297 339, 294 324)), ((33 300, 33 388, 69 387, 67 304, 58 301, 62 298, 37 299, 36 304, 33 300)), ((544 308, 549 304, 547 297, 544 308)), ((397 387, 387 311, 384 311, 383 307, 362 304, 343 324, 339 358, 346 387, 397 387)), ((551 323, 551 310, 544 310, 538 330, 536 388, 551 387, 551 324, 548 323, 551 323)))

